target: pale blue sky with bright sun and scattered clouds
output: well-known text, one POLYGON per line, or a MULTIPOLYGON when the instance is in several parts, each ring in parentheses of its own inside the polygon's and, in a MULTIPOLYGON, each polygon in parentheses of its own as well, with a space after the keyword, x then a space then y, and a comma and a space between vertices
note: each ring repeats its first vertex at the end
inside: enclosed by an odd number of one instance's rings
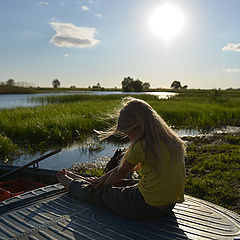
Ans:
POLYGON ((1 0, 0 82, 240 88, 239 11, 239 0, 1 0))

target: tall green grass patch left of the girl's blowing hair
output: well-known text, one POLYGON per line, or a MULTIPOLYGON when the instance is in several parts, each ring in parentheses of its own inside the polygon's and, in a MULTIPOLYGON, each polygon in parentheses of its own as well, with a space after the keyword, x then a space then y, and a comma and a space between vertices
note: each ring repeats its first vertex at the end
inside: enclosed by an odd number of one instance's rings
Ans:
POLYGON ((52 147, 70 144, 100 128, 98 115, 116 101, 84 101, 0 111, 0 133, 21 146, 52 147))

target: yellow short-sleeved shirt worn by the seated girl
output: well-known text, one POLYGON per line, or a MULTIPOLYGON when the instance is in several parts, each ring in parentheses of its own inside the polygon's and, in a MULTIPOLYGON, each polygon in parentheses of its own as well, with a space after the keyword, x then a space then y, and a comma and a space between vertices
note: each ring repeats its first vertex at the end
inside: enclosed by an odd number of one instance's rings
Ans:
MULTIPOLYGON (((125 160, 142 167, 143 177, 138 188, 147 204, 161 206, 184 201, 185 163, 184 161, 171 160, 167 146, 162 143, 161 165, 165 169, 161 174, 156 174, 144 158, 145 142, 137 142, 125 156, 125 160)), ((159 165, 161 167, 161 165, 159 165)))

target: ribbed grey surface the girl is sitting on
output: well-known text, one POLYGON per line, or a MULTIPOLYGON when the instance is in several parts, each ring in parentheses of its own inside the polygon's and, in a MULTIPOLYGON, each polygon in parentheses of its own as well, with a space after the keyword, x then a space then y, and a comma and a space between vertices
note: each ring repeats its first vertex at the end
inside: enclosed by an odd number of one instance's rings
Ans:
POLYGON ((185 196, 157 221, 132 221, 53 184, 0 202, 0 239, 240 239, 240 216, 185 196))

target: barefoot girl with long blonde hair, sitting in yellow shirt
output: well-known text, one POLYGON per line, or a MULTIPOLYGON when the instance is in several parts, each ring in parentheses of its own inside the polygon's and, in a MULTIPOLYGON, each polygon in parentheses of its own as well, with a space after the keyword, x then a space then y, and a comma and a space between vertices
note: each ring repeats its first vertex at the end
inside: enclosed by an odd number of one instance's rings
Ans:
POLYGON ((100 178, 61 170, 57 178, 80 200, 105 206, 134 219, 161 217, 184 201, 185 144, 145 101, 127 98, 116 126, 98 132, 100 139, 118 132, 130 139, 120 166, 100 178), (140 181, 123 180, 141 168, 140 181))

